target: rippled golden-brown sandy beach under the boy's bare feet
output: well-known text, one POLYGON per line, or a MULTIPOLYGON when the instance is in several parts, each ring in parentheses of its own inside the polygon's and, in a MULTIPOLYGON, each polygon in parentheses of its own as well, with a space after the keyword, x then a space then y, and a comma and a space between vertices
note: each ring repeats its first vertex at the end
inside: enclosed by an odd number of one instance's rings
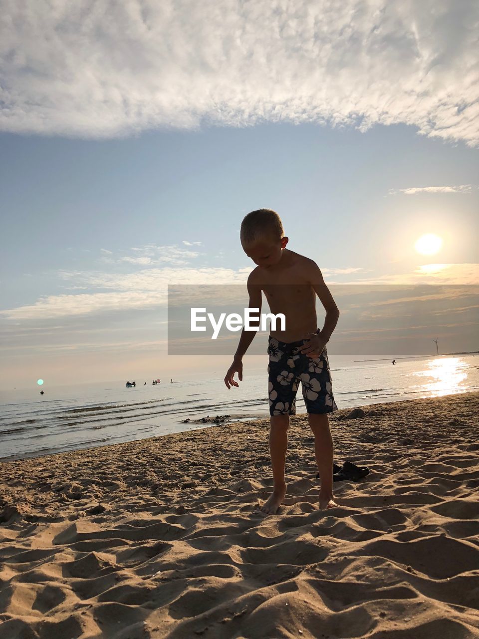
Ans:
POLYGON ((328 511, 305 415, 276 515, 268 419, 1 464, 0 637, 479 636, 479 393, 362 408, 328 511))

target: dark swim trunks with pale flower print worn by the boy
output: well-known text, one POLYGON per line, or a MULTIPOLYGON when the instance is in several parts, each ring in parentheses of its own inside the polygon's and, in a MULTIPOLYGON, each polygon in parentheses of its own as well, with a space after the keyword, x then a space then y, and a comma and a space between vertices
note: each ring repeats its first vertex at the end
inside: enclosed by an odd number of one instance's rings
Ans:
POLYGON ((306 342, 307 339, 301 339, 287 344, 270 335, 270 415, 296 415, 296 392, 300 381, 308 413, 338 410, 333 397, 326 346, 321 357, 313 359, 299 350, 306 342))

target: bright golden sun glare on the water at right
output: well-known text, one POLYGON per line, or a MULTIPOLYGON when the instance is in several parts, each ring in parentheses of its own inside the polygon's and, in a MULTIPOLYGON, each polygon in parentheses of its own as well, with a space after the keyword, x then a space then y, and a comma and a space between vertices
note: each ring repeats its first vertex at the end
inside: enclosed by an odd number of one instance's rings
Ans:
POLYGON ((419 390, 427 392, 425 397, 441 397, 469 390, 466 382, 469 366, 461 357, 438 357, 427 362, 425 371, 416 371, 413 375, 425 380, 418 385, 419 390))

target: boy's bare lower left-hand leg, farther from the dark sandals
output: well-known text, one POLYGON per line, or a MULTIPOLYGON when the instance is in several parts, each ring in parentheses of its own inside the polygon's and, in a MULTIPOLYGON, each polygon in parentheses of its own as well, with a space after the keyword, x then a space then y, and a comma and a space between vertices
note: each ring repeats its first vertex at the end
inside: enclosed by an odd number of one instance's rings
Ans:
POLYGON ((271 415, 270 454, 273 468, 273 493, 260 508, 262 512, 268 514, 276 514, 286 494, 284 469, 288 447, 288 426, 289 415, 271 415))

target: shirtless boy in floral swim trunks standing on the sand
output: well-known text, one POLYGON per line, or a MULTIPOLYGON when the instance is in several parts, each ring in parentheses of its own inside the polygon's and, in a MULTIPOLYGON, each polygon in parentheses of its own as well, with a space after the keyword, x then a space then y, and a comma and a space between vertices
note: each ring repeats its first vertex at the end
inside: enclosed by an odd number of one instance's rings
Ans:
MULTIPOLYGON (((333 508, 333 440, 328 413, 337 410, 331 389, 328 343, 339 317, 338 307, 324 284, 323 275, 312 259, 286 248, 278 213, 270 209, 252 211, 241 223, 241 246, 257 265, 248 277, 249 307, 261 312, 261 291, 273 314, 285 316, 285 330, 274 330, 268 338, 270 363, 270 454, 273 468, 273 493, 261 511, 275 514, 286 494, 284 477, 289 415, 296 414, 296 392, 301 381, 314 433, 321 488, 319 509, 333 508), (317 328, 316 295, 326 311, 324 327, 317 328)), ((277 328, 281 328, 279 322, 277 328)), ((243 380, 242 358, 255 336, 243 331, 233 362, 225 376, 228 389, 238 387, 234 374, 243 380)))

